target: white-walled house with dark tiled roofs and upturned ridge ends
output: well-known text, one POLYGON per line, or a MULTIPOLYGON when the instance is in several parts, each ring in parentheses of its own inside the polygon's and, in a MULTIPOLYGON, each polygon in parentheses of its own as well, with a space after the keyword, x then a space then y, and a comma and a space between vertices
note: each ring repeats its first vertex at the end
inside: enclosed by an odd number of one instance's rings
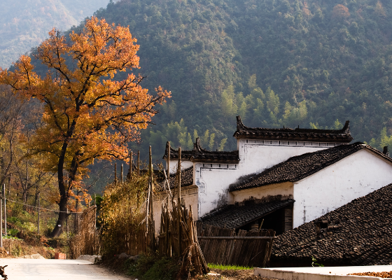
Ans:
MULTIPOLYGON (((349 144, 348 121, 341 130, 267 129, 237 117, 233 136, 237 151, 207 151, 197 140, 181 155, 193 173, 181 196, 204 223, 250 229, 265 220, 284 232, 392 183, 392 159, 349 144)), ((176 151, 170 160, 172 169, 176 151)))

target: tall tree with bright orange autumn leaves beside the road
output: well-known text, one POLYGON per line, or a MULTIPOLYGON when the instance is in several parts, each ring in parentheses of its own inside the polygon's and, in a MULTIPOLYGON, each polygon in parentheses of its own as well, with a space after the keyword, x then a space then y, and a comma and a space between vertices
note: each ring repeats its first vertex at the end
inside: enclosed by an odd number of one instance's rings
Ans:
POLYGON ((57 172, 59 218, 52 237, 62 232, 73 190, 95 159, 127 158, 127 142, 147 127, 170 92, 141 87, 137 39, 127 27, 92 17, 80 33, 66 38, 52 29, 38 46, 36 59, 48 66, 45 77, 34 72, 31 58, 20 57, 15 71, 0 69, 0 83, 43 104, 41 127, 29 141, 30 155, 45 155, 43 168, 57 172), (118 71, 127 71, 115 80, 118 71))

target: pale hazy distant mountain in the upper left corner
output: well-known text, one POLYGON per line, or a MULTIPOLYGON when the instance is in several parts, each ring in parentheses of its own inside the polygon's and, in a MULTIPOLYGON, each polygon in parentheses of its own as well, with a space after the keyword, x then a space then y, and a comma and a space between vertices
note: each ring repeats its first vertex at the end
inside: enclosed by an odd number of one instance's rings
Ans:
POLYGON ((78 25, 109 0, 1 0, 0 67, 12 62, 45 38, 52 27, 78 25))

